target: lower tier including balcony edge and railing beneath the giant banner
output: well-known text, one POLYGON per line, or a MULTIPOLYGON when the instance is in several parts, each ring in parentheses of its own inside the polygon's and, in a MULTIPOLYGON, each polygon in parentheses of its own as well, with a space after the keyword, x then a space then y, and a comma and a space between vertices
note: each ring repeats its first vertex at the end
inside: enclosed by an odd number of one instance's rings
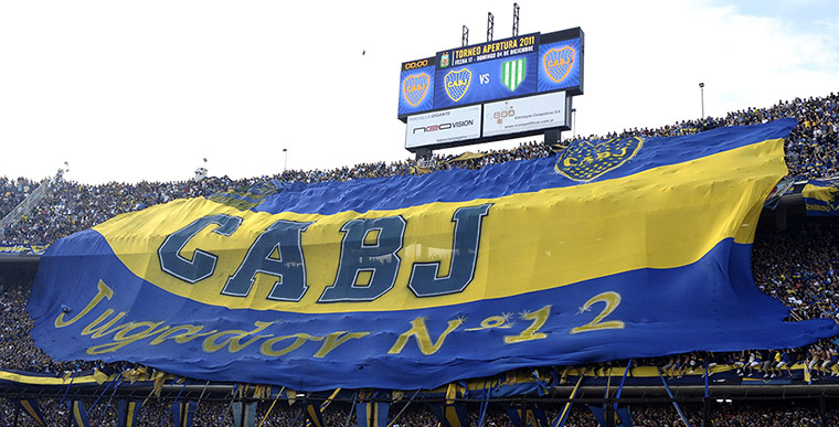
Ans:
POLYGON ((0 371, 4 425, 836 425, 839 369, 796 363, 517 371, 426 391, 321 393, 174 377, 145 367, 0 371), (779 370, 780 372, 776 372, 779 370), (606 409, 610 407, 610 409, 606 409), (360 415, 361 414, 361 415, 360 415), (613 423, 607 423, 609 414, 613 423), (522 416, 528 419, 524 421, 522 416), (450 417, 448 424, 445 419, 450 417), (381 419, 379 419, 381 418, 381 419), (132 423, 127 420, 131 419, 132 423), (438 424, 440 423, 440 424, 438 424))

